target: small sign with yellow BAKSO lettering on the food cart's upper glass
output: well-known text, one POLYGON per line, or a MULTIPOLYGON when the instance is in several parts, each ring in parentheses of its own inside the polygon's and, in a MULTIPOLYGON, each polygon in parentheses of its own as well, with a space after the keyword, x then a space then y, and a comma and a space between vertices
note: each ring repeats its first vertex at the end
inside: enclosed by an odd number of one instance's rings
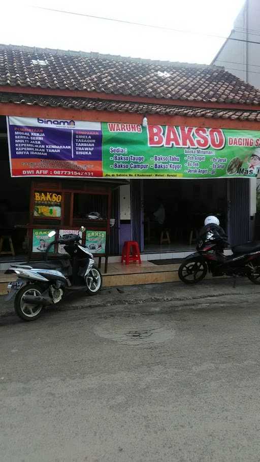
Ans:
POLYGON ((61 199, 61 194, 57 192, 35 192, 34 216, 60 218, 61 199))

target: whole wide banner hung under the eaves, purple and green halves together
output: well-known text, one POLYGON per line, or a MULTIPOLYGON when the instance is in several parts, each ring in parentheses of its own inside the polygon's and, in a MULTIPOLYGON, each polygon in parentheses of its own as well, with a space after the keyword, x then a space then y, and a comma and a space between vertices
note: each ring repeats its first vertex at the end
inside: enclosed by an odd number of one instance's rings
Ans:
POLYGON ((231 178, 260 172, 260 131, 7 117, 11 176, 231 178))

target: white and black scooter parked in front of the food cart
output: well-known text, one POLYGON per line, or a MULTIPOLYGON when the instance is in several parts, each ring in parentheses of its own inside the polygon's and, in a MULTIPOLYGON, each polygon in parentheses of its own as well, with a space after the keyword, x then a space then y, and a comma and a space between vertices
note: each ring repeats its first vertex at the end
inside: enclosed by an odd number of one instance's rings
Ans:
MULTIPOLYGON (((81 227, 81 232, 85 228, 81 227)), ((51 231, 49 237, 55 236, 51 231)), ((25 321, 37 319, 43 307, 56 305, 66 292, 84 290, 95 295, 101 290, 102 276, 94 267, 93 255, 80 244, 80 236, 67 234, 52 241, 45 252, 45 261, 28 265, 11 265, 6 274, 15 273, 18 279, 8 284, 6 301, 14 298, 16 314, 25 321), (48 261, 48 252, 54 244, 64 245, 68 256, 48 261)))

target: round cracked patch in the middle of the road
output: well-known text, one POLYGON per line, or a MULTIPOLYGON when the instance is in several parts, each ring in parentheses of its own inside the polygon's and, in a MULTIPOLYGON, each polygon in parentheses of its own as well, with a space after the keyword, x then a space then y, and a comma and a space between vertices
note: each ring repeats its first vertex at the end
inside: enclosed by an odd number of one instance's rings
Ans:
POLYGON ((94 328, 96 335, 124 345, 145 346, 171 340, 175 331, 169 325, 145 316, 106 319, 94 328))

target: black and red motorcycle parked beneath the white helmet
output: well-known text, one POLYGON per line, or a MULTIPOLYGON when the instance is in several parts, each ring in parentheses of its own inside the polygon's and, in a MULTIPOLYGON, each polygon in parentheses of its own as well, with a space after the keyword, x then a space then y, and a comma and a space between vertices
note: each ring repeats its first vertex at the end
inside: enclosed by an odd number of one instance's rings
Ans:
POLYGON ((185 258, 179 268, 179 278, 185 284, 197 284, 208 272, 212 276, 245 276, 254 284, 260 284, 260 241, 247 242, 232 248, 232 255, 224 255, 228 245, 214 226, 210 226, 199 238, 197 252, 185 258))

